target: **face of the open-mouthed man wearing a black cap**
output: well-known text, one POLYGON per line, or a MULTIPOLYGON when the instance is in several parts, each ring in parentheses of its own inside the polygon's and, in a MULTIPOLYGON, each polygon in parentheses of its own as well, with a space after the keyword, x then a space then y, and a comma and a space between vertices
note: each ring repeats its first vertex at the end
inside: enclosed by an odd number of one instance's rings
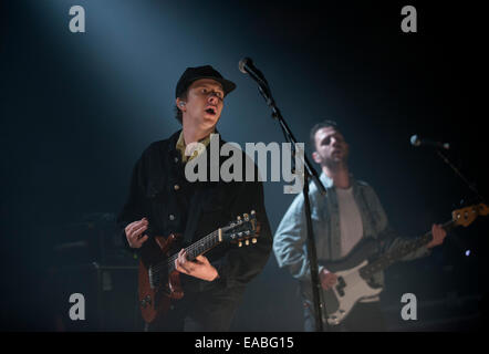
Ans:
POLYGON ((188 87, 187 101, 183 110, 184 125, 199 131, 209 131, 219 121, 223 107, 225 93, 220 83, 211 79, 200 79, 188 87))

